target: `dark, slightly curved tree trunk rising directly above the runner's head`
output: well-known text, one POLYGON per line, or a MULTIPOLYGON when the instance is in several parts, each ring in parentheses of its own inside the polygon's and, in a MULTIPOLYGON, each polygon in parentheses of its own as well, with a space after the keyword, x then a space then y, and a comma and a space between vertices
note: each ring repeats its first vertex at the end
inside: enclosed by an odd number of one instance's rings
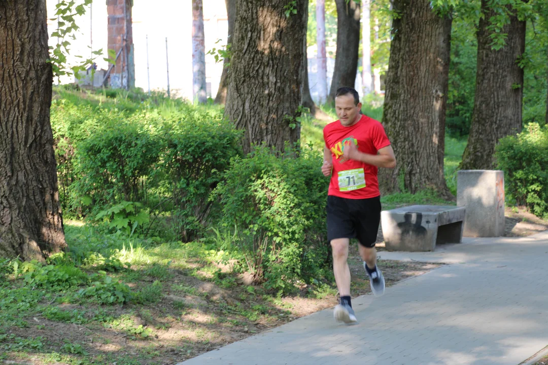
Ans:
POLYGON ((331 81, 328 102, 333 103, 335 92, 341 86, 356 85, 358 73, 359 18, 361 11, 354 0, 335 0, 337 6, 337 51, 335 71, 331 81))

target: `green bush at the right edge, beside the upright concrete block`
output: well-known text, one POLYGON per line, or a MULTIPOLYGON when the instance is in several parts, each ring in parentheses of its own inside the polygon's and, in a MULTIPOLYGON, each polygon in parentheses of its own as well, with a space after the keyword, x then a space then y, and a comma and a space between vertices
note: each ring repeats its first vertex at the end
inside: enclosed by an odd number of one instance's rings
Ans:
POLYGON ((548 217, 548 126, 528 124, 517 136, 500 140, 495 155, 507 193, 536 216, 548 217))

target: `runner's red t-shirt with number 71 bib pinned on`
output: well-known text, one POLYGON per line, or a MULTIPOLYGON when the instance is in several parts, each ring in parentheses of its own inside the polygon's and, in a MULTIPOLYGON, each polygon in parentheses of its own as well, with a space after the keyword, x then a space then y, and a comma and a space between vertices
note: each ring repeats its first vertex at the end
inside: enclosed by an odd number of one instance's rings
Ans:
POLYGON ((333 160, 328 195, 349 199, 375 198, 380 195, 377 179, 379 169, 373 165, 342 157, 343 143, 349 138, 354 138, 359 152, 372 155, 376 155, 379 149, 390 145, 383 125, 366 115, 362 115, 358 123, 349 127, 342 125, 340 120, 326 125, 323 129, 323 140, 326 142, 326 147, 331 150, 333 160), (365 179, 365 182, 362 179, 365 179), (341 188, 339 188, 339 182, 341 188))

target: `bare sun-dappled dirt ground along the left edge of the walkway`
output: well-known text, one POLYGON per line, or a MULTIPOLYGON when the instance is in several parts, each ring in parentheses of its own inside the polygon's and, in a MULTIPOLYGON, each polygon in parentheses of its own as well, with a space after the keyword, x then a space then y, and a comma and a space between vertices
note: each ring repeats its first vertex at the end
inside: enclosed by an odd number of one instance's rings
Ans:
MULTIPOLYGON (((369 293, 369 280, 355 247, 351 250, 349 263, 352 295, 369 293)), ((440 265, 383 260, 381 266, 387 286, 391 286, 440 265)), ((259 288, 256 288, 255 294, 253 287, 245 285, 220 288, 212 282, 177 272, 174 272, 171 281, 172 290, 164 293, 161 302, 146 308, 132 304, 115 306, 109 312, 113 317, 125 316, 125 320, 106 323, 90 321, 78 325, 50 321, 41 315, 25 318, 28 326, 13 327, 9 334, 27 339, 41 337, 41 354, 36 351, 8 351, 4 359, 13 364, 80 363, 67 360, 62 352, 59 354, 64 344, 79 344, 88 354, 85 358, 93 359, 94 364, 175 364, 337 303, 334 289, 314 296, 308 292, 309 288, 303 286, 300 293, 272 303, 259 295, 259 288), (180 288, 186 289, 183 291, 180 288), (192 288, 191 293, 189 288, 192 288), (125 327, 124 322, 127 322, 125 327), (146 338, 128 332, 128 328, 139 325, 150 329, 151 333, 146 338)), ((59 308, 87 312, 90 316, 98 309, 88 304, 61 304, 59 308)))

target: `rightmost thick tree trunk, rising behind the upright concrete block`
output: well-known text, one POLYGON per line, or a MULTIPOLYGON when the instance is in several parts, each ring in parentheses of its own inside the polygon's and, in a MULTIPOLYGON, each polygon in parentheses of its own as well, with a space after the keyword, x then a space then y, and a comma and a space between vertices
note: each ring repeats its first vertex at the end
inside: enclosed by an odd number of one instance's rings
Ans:
MULTIPOLYGON (((482 0, 482 13, 478 28, 478 61, 476 96, 468 144, 464 150, 463 170, 489 170, 494 168, 495 146, 508 135, 521 131, 523 100, 523 68, 517 60, 525 50, 526 22, 510 16, 504 26, 506 45, 492 49, 492 32, 488 31, 489 18, 496 15, 482 0)), ((516 14, 516 11, 513 11, 516 14)))

